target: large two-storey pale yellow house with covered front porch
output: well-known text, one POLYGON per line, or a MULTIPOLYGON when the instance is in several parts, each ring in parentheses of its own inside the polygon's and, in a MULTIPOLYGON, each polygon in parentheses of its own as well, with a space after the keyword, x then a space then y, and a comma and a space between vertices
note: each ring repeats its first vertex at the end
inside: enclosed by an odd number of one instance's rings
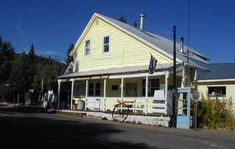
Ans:
MULTIPOLYGON (((140 20, 136 28, 97 13, 91 17, 70 53, 74 61, 58 77, 60 102, 67 100, 61 85, 71 82, 71 109, 78 99, 85 101, 86 110, 101 111, 132 101, 141 113, 171 115, 173 41, 145 31, 143 15, 140 20), (157 60, 153 74, 148 71, 151 55, 157 60)), ((205 69, 208 58, 183 43, 176 49, 177 86, 192 86, 197 68, 205 69)))

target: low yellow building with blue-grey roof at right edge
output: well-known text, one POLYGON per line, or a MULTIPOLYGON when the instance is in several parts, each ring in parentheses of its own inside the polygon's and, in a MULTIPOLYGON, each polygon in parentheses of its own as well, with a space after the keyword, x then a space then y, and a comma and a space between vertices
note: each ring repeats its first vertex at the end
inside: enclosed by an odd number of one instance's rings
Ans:
POLYGON ((235 109, 235 63, 212 63, 207 67, 197 79, 201 98, 229 99, 235 109))

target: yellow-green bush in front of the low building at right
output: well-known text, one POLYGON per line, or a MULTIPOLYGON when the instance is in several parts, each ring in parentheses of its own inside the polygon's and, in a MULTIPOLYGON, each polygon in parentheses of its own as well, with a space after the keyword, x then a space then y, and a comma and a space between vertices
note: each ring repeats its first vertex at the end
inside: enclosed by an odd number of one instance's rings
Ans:
POLYGON ((199 127, 231 128, 235 124, 231 99, 205 99, 198 106, 199 127))

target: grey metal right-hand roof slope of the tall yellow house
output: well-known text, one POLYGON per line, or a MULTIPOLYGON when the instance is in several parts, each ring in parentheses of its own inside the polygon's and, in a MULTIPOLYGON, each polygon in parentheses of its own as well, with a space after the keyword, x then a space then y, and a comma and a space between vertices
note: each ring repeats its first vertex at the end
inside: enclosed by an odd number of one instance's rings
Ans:
MULTIPOLYGON (((147 31, 142 31, 138 28, 135 28, 127 23, 123 23, 121 21, 112 19, 110 17, 95 14, 98 17, 104 18, 105 20, 108 20, 109 22, 119 26, 122 30, 125 30, 127 32, 130 32, 131 34, 134 34, 135 36, 143 39, 145 43, 152 44, 155 47, 160 48, 160 52, 173 56, 173 41, 170 39, 167 39, 165 37, 162 37, 160 35, 156 35, 154 33, 150 33, 147 31)), ((187 46, 184 46, 185 48, 188 48, 187 46)), ((176 43, 176 49, 177 50, 177 58, 180 59, 184 63, 188 63, 194 67, 207 69, 206 65, 208 63, 209 58, 204 56, 203 54, 189 48, 189 51, 191 51, 189 54, 184 54, 179 51, 181 48, 181 45, 179 43, 176 43)))

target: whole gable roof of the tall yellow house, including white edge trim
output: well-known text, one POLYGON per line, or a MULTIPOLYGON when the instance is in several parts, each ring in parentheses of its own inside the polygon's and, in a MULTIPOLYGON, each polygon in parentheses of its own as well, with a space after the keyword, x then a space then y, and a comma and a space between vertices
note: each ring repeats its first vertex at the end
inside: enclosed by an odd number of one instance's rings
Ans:
MULTIPOLYGON (((131 35, 132 37, 140 40, 144 44, 147 44, 148 46, 157 50, 159 53, 173 59, 173 41, 171 41, 167 38, 164 38, 162 36, 150 33, 150 32, 139 30, 129 24, 123 23, 121 21, 112 19, 110 17, 104 16, 104 15, 101 15, 98 13, 95 13, 92 16, 92 18, 90 19, 86 28, 82 32, 82 35, 80 36, 80 38, 76 42, 74 49, 71 51, 71 53, 70 53, 71 56, 73 56, 73 54, 75 53, 75 50, 80 45, 80 43, 81 43, 83 37, 85 36, 86 32, 88 31, 89 27, 91 26, 91 24, 94 22, 94 20, 97 17, 104 20, 105 22, 111 24, 112 26, 118 28, 119 30, 131 35)), ((180 44, 176 43, 176 49, 180 49, 180 47, 181 47, 180 44)), ((189 50, 191 51, 190 54, 184 54, 180 51, 177 51, 176 52, 177 62, 189 64, 193 67, 206 69, 205 64, 207 63, 207 61, 209 59, 206 56, 204 56, 203 54, 201 54, 191 48, 189 48, 189 50)))

